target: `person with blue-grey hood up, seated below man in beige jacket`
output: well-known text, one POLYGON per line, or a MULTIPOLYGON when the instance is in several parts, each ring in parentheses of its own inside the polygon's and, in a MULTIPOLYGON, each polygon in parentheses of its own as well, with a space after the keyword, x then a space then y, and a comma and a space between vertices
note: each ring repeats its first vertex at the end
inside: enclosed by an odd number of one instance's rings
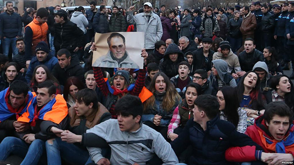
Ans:
MULTIPOLYGON (((211 74, 208 80, 214 91, 218 91, 225 86, 237 87, 236 80, 228 73, 228 63, 226 61, 213 60, 211 63, 211 74)), ((212 93, 212 95, 215 96, 216 93, 212 93)))

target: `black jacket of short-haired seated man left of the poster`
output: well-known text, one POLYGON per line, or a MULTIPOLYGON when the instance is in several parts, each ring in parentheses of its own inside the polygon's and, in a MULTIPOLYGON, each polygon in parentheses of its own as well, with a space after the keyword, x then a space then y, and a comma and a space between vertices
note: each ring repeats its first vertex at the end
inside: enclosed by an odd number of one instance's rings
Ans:
POLYGON ((84 69, 80 66, 80 63, 77 60, 71 60, 70 65, 66 69, 62 69, 57 63, 53 70, 52 74, 58 79, 59 84, 64 86, 68 77, 76 76, 84 82, 84 69))

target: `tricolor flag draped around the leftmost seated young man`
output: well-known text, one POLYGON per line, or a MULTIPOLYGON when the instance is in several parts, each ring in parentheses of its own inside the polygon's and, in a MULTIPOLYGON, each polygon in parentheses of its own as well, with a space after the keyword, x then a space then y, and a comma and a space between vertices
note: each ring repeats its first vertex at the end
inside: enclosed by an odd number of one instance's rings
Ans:
POLYGON ((16 115, 16 119, 21 116, 24 112, 27 111, 28 104, 32 101, 35 96, 35 93, 28 92, 28 97, 24 104, 19 108, 13 108, 11 104, 9 104, 9 96, 10 90, 9 88, 0 92, 0 122, 9 119, 11 116, 16 115))

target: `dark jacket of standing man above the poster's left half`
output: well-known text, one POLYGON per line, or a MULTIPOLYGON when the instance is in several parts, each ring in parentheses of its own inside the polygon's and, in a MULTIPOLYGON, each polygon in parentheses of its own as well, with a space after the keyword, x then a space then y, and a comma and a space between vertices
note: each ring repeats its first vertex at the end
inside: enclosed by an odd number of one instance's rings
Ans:
POLYGON ((93 19, 93 29, 96 33, 108 33, 108 19, 104 13, 97 12, 93 19))

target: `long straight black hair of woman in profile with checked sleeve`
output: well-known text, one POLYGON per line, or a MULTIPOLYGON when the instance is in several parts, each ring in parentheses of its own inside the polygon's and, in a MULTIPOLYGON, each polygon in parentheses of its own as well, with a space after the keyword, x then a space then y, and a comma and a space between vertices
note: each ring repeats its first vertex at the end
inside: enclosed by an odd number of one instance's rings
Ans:
POLYGON ((230 86, 226 86, 219 91, 223 93, 226 102, 225 109, 223 110, 224 114, 228 118, 228 121, 237 127, 239 123, 239 102, 237 92, 233 87, 230 86))

